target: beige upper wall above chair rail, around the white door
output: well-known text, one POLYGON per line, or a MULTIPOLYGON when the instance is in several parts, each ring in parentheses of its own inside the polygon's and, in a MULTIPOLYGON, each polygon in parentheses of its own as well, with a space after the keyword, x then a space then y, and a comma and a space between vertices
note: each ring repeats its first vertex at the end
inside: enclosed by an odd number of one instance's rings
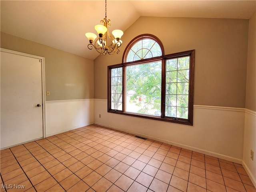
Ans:
POLYGON ((94 98, 93 60, 3 32, 1 48, 45 58, 46 101, 94 98))

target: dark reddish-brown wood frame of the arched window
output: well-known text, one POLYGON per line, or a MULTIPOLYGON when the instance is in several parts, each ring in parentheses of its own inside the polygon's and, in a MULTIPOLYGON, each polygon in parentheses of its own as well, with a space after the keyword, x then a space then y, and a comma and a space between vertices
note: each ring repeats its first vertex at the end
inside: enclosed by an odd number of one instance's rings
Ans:
POLYGON ((128 46, 123 54, 122 63, 108 66, 108 112, 115 113, 115 114, 123 114, 128 116, 140 117, 140 118, 147 118, 152 120, 160 120, 165 122, 173 122, 178 124, 185 124, 185 125, 193 125, 193 105, 194 105, 194 58, 195 58, 195 50, 188 50, 184 52, 178 52, 174 54, 167 54, 164 55, 164 47, 162 42, 154 35, 151 34, 142 34, 134 38, 128 46), (147 58, 142 60, 136 60, 132 62, 125 62, 128 51, 130 48, 142 38, 151 38, 155 40, 162 50, 162 56, 157 56, 153 58, 147 58), (167 117, 165 116, 165 94, 166 94, 166 60, 173 59, 173 58, 180 58, 180 57, 190 57, 190 66, 189 66, 189 92, 188 92, 188 119, 177 118, 177 117, 167 117), (126 86, 126 66, 136 65, 136 64, 144 64, 147 62, 154 62, 154 61, 162 61, 162 84, 161 84, 161 116, 150 116, 145 114, 135 114, 131 112, 125 112, 125 86, 126 86), (122 110, 113 110, 111 109, 111 69, 113 68, 122 68, 122 110))

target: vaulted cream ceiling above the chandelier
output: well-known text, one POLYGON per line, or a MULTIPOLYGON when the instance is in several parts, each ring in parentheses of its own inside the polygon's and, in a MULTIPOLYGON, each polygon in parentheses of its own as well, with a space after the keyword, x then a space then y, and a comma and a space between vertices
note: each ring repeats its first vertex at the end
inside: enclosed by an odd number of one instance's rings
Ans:
MULTIPOLYGON (((110 31, 140 16, 249 19, 256 0, 108 0, 110 31)), ((0 1, 1 31, 94 60, 86 32, 105 17, 104 0, 0 1)))

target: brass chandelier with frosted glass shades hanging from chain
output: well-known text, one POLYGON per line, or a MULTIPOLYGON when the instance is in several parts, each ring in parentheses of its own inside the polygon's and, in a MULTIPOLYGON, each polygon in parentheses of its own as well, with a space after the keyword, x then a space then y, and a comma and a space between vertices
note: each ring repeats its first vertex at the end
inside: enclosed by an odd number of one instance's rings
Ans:
POLYGON ((121 30, 113 30, 112 34, 114 38, 110 35, 108 31, 108 26, 110 26, 110 20, 107 20, 107 0, 105 0, 105 18, 100 20, 100 23, 103 25, 96 25, 94 28, 97 31, 99 37, 94 33, 86 33, 86 37, 88 38, 90 44, 88 44, 88 48, 92 50, 95 48, 102 55, 106 55, 107 53, 112 55, 114 53, 119 54, 119 47, 122 45, 122 40, 120 38, 124 34, 121 30), (97 39, 96 39, 97 38, 97 39), (94 40, 96 41, 94 42, 94 40), (110 44, 108 45, 108 40, 110 40, 110 44))

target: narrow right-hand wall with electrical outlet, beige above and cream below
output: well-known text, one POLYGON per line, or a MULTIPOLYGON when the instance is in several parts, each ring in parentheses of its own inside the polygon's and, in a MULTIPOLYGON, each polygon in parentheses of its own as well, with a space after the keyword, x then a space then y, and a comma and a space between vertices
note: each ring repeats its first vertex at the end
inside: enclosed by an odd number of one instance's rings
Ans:
POLYGON ((249 23, 246 108, 249 110, 244 119, 243 160, 256 186, 256 12, 249 23), (254 151, 253 161, 250 159, 251 150, 254 151))

